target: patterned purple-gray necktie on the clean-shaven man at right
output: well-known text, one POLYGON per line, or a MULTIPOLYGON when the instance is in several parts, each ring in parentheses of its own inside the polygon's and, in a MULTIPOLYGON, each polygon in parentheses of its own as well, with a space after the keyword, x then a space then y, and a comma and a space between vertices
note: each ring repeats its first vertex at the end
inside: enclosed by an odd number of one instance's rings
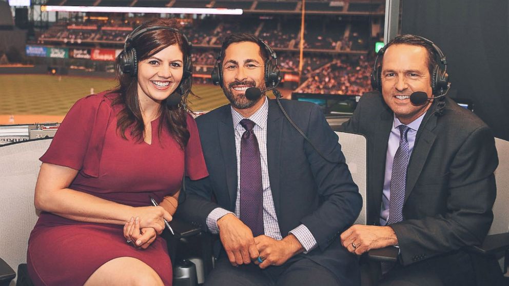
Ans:
POLYGON ((387 224, 403 220, 403 202, 405 201, 406 169, 408 168, 408 139, 406 134, 410 128, 399 126, 399 148, 394 155, 393 173, 390 177, 389 218, 387 224))

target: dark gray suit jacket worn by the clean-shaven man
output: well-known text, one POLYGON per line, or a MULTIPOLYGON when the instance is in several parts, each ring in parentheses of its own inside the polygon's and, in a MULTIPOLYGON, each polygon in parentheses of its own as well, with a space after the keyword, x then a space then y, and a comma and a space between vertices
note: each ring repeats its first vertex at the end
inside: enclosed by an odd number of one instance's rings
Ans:
MULTIPOLYGON (((403 265, 480 244, 493 220, 498 157, 491 130, 452 99, 443 115, 434 111, 435 103, 408 162, 403 221, 391 224, 403 265)), ((367 137, 368 224, 379 224, 393 114, 379 92, 370 92, 342 126, 367 137)))

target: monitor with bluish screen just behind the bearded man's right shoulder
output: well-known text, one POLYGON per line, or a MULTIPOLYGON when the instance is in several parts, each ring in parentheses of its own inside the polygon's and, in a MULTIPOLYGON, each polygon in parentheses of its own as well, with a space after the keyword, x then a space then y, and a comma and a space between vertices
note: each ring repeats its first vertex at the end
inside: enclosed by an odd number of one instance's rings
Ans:
POLYGON ((296 93, 291 94, 292 100, 308 101, 317 104, 325 116, 351 116, 357 106, 360 96, 338 95, 338 94, 317 94, 317 93, 296 93))

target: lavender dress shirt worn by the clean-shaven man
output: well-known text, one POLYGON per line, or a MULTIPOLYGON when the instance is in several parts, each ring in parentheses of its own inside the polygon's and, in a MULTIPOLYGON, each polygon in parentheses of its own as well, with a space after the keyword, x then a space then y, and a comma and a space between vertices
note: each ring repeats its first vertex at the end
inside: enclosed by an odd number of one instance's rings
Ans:
MULTIPOLYGON (((424 113, 426 114, 426 113, 424 113)), ((408 133, 406 135, 408 140, 408 155, 412 156, 412 150, 414 150, 414 144, 415 144, 415 136, 417 135, 417 130, 419 130, 419 126, 421 125, 422 118, 424 118, 424 114, 419 116, 419 118, 415 119, 414 121, 410 122, 410 124, 407 124, 410 128, 408 130, 408 133)), ((402 123, 399 121, 398 118, 396 118, 396 115, 394 116, 394 123, 393 123, 393 129, 390 130, 389 135, 389 142, 387 146, 387 154, 385 157, 385 177, 383 181, 383 194, 382 194, 382 208, 380 211, 380 225, 385 226, 387 224, 387 218, 389 217, 389 200, 390 200, 390 179, 391 175, 393 173, 393 162, 394 162, 394 155, 396 154, 396 151, 399 147, 399 141, 400 141, 400 132, 399 132, 399 126, 402 125, 402 123)))

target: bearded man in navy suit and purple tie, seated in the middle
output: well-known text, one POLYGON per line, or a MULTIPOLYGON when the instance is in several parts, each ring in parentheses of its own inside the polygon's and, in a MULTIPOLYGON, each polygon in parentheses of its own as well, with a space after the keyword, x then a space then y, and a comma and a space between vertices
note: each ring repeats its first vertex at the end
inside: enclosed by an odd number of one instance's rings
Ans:
POLYGON ((358 285, 356 256, 338 237, 362 201, 338 137, 318 106, 281 100, 325 160, 275 100, 246 97, 279 83, 275 59, 252 34, 225 39, 212 79, 231 104, 197 118, 210 175, 186 180, 177 215, 219 232, 207 285, 358 285))

